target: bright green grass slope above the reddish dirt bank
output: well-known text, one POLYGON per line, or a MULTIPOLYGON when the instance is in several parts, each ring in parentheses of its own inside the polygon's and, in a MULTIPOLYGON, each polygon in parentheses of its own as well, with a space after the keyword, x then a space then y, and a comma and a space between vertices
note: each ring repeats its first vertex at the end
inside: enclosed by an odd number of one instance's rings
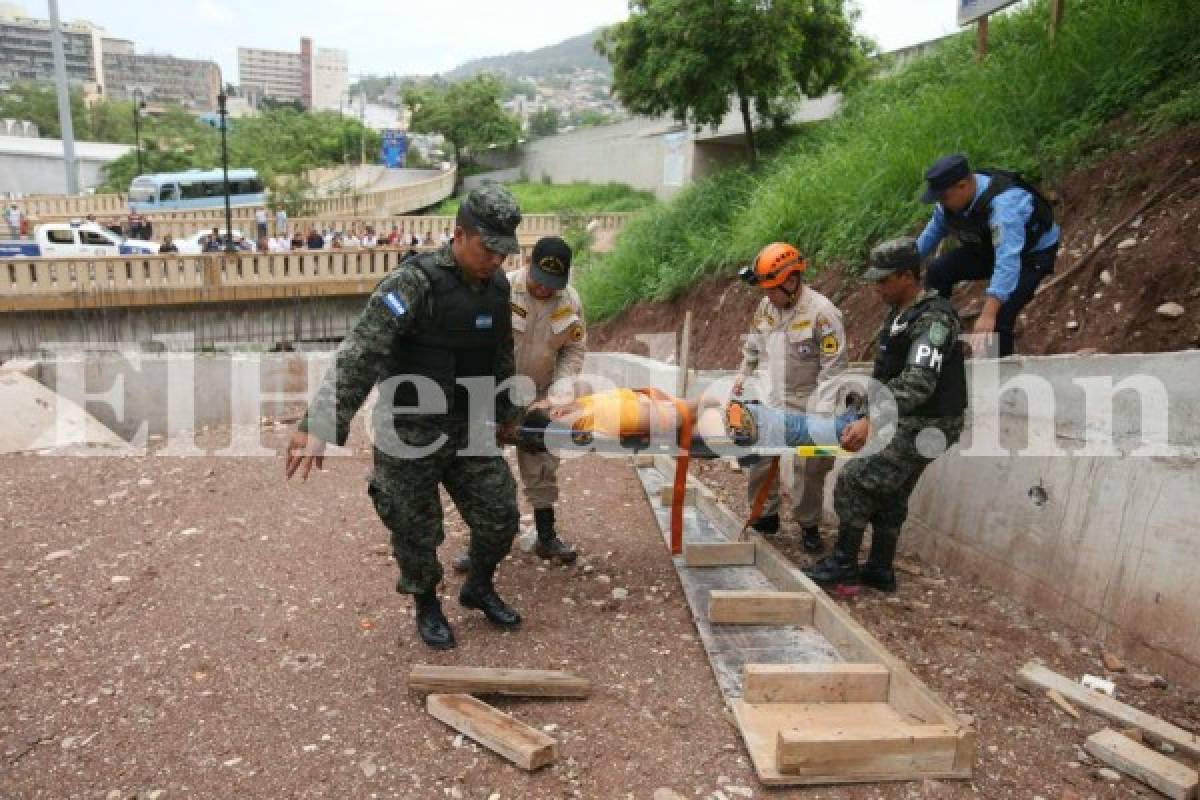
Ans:
POLYGON ((870 82, 827 124, 798 133, 755 173, 698 182, 635 219, 578 288, 605 319, 640 300, 665 300, 730 271, 770 241, 810 264, 859 269, 881 239, 919 228, 926 164, 961 151, 979 166, 1052 182, 1130 138, 1200 119, 1200 2, 1075 0, 1057 41, 1044 1, 992 18, 990 54, 974 60, 967 31, 870 82))

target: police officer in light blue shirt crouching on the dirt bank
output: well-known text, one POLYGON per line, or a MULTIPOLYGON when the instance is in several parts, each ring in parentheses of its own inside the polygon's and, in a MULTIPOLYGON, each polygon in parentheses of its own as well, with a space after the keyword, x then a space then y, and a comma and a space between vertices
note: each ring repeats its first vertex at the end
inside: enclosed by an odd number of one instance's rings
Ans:
POLYGON ((925 287, 949 297, 959 281, 988 279, 976 333, 996 333, 998 355, 1014 350, 1013 326, 1058 255, 1058 225, 1050 201, 1018 173, 972 170, 953 155, 925 170, 924 203, 934 217, 917 240, 922 259, 947 235, 959 247, 935 259, 925 287))

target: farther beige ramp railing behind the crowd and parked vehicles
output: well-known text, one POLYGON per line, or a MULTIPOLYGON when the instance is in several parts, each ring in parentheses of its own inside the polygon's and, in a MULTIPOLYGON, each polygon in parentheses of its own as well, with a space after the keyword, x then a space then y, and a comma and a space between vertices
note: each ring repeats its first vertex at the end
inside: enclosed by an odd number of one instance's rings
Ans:
MULTIPOLYGON (((437 205, 454 192, 456 169, 439 172, 428 180, 414 181, 389 190, 376 192, 349 193, 338 197, 317 198, 308 203, 308 207, 317 216, 343 217, 347 215, 376 215, 388 216, 394 213, 407 213, 419 209, 427 209, 437 205)), ((120 215, 128 213, 127 194, 82 194, 78 197, 67 196, 31 196, 16 200, 22 213, 38 222, 55 222, 86 217, 89 213, 120 215)), ((262 207, 262 206, 258 206, 262 207)), ((254 218, 254 207, 244 206, 233 209, 234 219, 242 221, 254 218)), ((197 219, 220 217, 224 219, 224 212, 214 213, 211 210, 203 211, 162 211, 149 215, 151 219, 197 219)))

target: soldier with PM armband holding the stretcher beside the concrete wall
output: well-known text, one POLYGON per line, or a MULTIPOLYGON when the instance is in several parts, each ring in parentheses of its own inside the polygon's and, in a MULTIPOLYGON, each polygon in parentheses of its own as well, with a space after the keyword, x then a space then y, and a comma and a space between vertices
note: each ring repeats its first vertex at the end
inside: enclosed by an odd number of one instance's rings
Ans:
MULTIPOLYGON (((925 468, 962 433, 967 387, 961 321, 936 291, 920 288, 920 255, 911 237, 883 242, 871 251, 865 279, 877 284, 892 306, 880 329, 871 377, 895 399, 899 419, 892 441, 872 456, 846 464, 834 487, 838 543, 828 558, 805 570, 820 584, 862 583, 895 591, 895 558, 900 528, 908 516, 908 497, 925 468), (858 551, 871 525, 871 552, 859 570, 858 551)), ((848 426, 842 445, 862 446, 870 420, 848 426)))

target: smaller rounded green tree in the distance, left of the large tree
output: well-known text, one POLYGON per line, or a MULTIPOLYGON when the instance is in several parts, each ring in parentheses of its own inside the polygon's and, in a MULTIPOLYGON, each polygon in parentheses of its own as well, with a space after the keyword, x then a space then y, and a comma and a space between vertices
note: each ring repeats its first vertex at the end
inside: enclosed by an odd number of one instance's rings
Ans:
POLYGON ((481 74, 444 91, 433 85, 409 86, 404 104, 413 110, 413 131, 440 133, 469 161, 474 152, 514 144, 521 137, 520 122, 500 108, 502 92, 494 76, 481 74))

